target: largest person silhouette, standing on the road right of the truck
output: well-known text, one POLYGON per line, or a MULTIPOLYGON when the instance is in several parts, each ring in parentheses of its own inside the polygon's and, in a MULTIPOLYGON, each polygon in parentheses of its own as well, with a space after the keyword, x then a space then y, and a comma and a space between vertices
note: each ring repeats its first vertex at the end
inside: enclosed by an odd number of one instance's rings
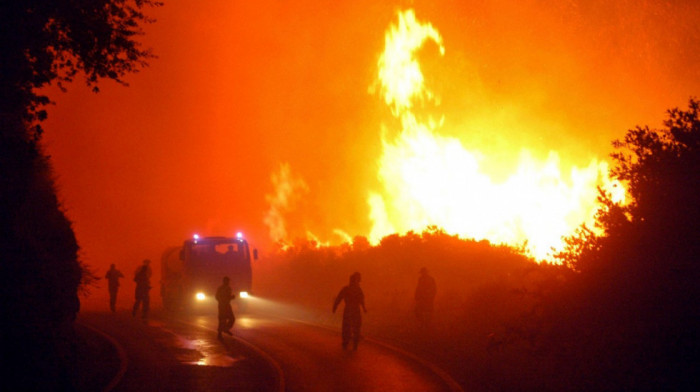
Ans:
POLYGON ((365 308, 365 294, 360 288, 360 280, 362 276, 359 272, 350 275, 350 284, 343 287, 333 302, 333 313, 340 305, 341 301, 345 301, 345 309, 343 310, 343 349, 348 347, 348 343, 352 340, 353 350, 357 350, 357 343, 360 341, 360 327, 362 326, 362 313, 360 309, 367 313, 365 308))

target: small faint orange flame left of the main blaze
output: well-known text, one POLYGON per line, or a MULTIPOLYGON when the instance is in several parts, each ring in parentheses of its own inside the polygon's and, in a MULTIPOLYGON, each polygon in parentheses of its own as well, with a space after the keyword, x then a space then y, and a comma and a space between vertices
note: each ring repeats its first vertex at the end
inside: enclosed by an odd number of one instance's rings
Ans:
POLYGON ((292 174, 289 163, 282 163, 277 172, 270 176, 274 192, 265 195, 270 205, 264 222, 270 229, 270 238, 285 246, 289 243, 285 215, 293 211, 297 201, 309 188, 301 177, 292 174))

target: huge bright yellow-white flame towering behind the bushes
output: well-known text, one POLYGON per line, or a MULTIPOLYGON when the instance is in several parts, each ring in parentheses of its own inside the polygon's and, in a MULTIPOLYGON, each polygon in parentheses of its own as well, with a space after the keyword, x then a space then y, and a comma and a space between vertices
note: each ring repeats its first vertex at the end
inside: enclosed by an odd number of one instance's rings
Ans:
POLYGON ((489 177, 482 153, 439 135, 442 121, 419 119, 414 112, 418 103, 437 105, 415 56, 430 41, 445 54, 439 32, 430 23, 420 23, 412 10, 399 12, 398 23, 385 35, 378 81, 401 129, 395 137, 383 136, 378 161, 383 191, 368 197, 372 243, 388 234, 436 225, 461 237, 524 245, 535 258, 547 259, 552 249, 563 246, 563 236, 582 223, 592 225, 599 208, 597 186, 616 201, 624 198, 622 186, 609 178, 606 162, 594 159, 565 175, 556 152, 538 160, 523 149, 517 168, 505 180, 489 177))

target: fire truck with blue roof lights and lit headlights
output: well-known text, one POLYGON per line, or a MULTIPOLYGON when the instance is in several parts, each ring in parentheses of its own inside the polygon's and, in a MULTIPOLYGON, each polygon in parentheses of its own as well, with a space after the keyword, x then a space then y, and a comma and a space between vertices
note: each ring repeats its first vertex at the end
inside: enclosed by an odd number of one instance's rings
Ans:
MULTIPOLYGON (((257 259, 253 249, 252 259, 257 259)), ((251 250, 242 234, 200 237, 171 247, 161 257, 160 294, 167 310, 216 309, 216 289, 222 278, 243 301, 252 289, 251 250)))

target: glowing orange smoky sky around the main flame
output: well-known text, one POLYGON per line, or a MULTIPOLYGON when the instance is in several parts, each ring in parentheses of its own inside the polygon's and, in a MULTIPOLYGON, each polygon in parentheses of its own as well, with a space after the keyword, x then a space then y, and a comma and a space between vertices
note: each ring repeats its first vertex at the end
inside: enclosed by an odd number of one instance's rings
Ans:
POLYGON ((166 1, 143 37, 158 58, 128 88, 51 90, 44 144, 83 260, 130 272, 195 232, 268 249, 281 167, 297 180, 288 237, 368 235, 395 121, 369 90, 409 8, 442 37, 444 56, 418 53, 440 132, 494 179, 522 148, 564 168, 606 159, 612 139, 700 92, 693 1, 166 1))

